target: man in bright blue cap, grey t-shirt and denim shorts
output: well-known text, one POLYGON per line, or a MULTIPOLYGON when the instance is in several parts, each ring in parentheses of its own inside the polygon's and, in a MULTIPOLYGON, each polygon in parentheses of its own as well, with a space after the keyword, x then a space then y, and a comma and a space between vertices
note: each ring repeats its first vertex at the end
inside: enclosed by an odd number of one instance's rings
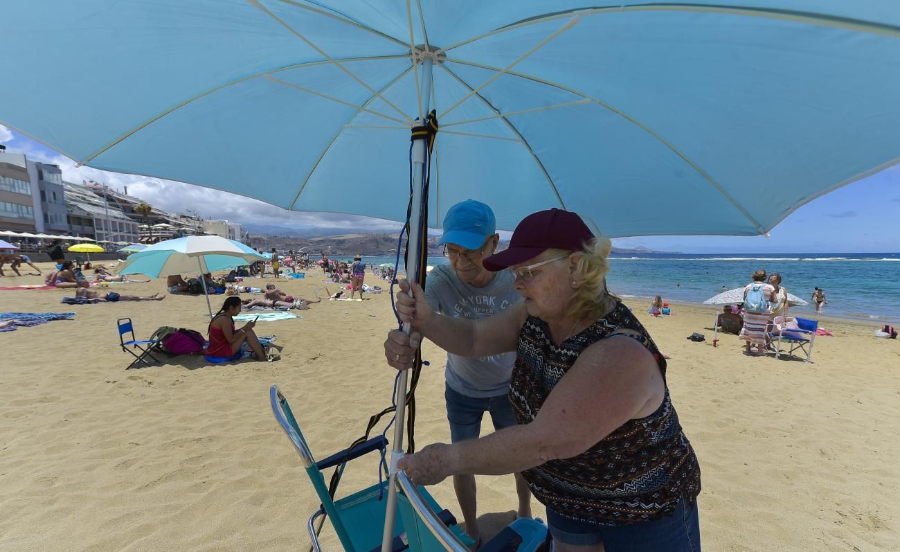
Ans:
MULTIPOLYGON (((499 241, 491 207, 471 199, 451 207, 444 218, 444 235, 438 242, 444 246, 449 264, 435 267, 425 284, 431 307, 452 316, 478 318, 491 316, 521 301, 509 270, 491 272, 482 265, 482 260, 497 249, 499 241)), ((385 355, 389 355, 386 349, 385 355)), ((516 425, 508 396, 515 361, 514 352, 482 358, 447 353, 445 398, 452 442, 477 439, 484 412, 491 413, 495 430, 516 425)), ((454 475, 453 483, 465 530, 479 543, 475 476, 454 475)), ((516 474, 516 491, 518 516, 530 518, 531 493, 519 474, 516 474)))

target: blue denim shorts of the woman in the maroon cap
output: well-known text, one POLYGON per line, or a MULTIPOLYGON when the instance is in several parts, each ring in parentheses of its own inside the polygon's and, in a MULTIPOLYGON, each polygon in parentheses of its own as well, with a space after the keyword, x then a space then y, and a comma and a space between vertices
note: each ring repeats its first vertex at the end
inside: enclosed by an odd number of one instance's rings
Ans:
POLYGON ((671 516, 632 525, 595 525, 547 508, 547 525, 554 539, 572 546, 603 543, 606 552, 700 552, 698 506, 684 499, 671 516))

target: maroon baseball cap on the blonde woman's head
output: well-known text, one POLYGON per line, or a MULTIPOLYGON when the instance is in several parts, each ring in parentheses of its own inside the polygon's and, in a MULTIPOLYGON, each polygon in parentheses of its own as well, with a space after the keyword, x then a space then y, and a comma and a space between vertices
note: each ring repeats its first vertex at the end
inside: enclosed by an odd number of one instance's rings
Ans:
POLYGON ((571 211, 548 209, 531 213, 518 223, 509 240, 509 249, 484 259, 484 267, 493 272, 536 258, 547 249, 581 250, 594 239, 581 217, 571 211))

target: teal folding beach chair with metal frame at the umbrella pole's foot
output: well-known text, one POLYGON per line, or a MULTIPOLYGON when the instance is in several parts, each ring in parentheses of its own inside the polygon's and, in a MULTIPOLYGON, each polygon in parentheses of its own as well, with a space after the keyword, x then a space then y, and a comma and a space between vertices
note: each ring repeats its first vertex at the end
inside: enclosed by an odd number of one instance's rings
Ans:
MULTIPOLYGON (((334 499, 334 495, 337 493, 340 477, 347 467, 347 462, 376 450, 383 452, 387 448, 387 439, 380 435, 356 447, 347 448, 317 462, 313 458, 306 440, 303 439, 300 426, 297 425, 293 412, 291 412, 291 406, 287 403, 284 395, 278 391, 276 385, 272 385, 269 389, 269 400, 272 403, 275 421, 287 434, 288 439, 291 439, 293 448, 300 454, 306 474, 309 475, 312 486, 321 501, 319 509, 312 512, 307 522, 307 529, 312 539, 311 550, 321 552, 319 533, 325 519, 328 518, 335 533, 338 534, 341 545, 347 552, 380 552, 384 512, 387 503, 387 485, 390 482, 384 481, 383 483, 371 485, 362 491, 357 491, 338 500, 334 499), (325 475, 322 473, 322 470, 329 467, 335 468, 335 475, 330 485, 325 483, 325 475), (319 521, 318 523, 317 520, 319 521)), ((384 461, 382 459, 382 466, 383 464, 384 461)), ((404 502, 409 505, 409 501, 402 495, 397 498, 402 512, 403 508, 406 507, 404 502)), ((435 499, 422 487, 419 487, 419 500, 428 504, 431 511, 440 511, 435 499)), ((457 540, 467 543, 467 545, 473 544, 472 539, 468 538, 462 529, 456 527, 456 520, 449 511, 440 511, 436 517, 445 528, 451 528, 449 530, 455 535, 457 540)), ((407 544, 401 538, 401 534, 404 532, 409 534, 409 531, 404 529, 402 516, 398 515, 394 522, 392 552, 401 552, 406 549, 410 549, 410 552, 428 552, 444 549, 443 547, 412 547, 412 541, 409 541, 410 544, 407 544)), ((418 543, 419 541, 417 540, 416 542, 418 543)))

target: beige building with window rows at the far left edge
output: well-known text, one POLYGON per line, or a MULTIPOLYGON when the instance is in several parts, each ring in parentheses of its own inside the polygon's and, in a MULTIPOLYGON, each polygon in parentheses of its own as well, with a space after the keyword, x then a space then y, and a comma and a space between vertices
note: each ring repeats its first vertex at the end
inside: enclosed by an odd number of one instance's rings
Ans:
POLYGON ((0 230, 38 231, 34 212, 28 160, 22 153, 0 152, 0 230))

